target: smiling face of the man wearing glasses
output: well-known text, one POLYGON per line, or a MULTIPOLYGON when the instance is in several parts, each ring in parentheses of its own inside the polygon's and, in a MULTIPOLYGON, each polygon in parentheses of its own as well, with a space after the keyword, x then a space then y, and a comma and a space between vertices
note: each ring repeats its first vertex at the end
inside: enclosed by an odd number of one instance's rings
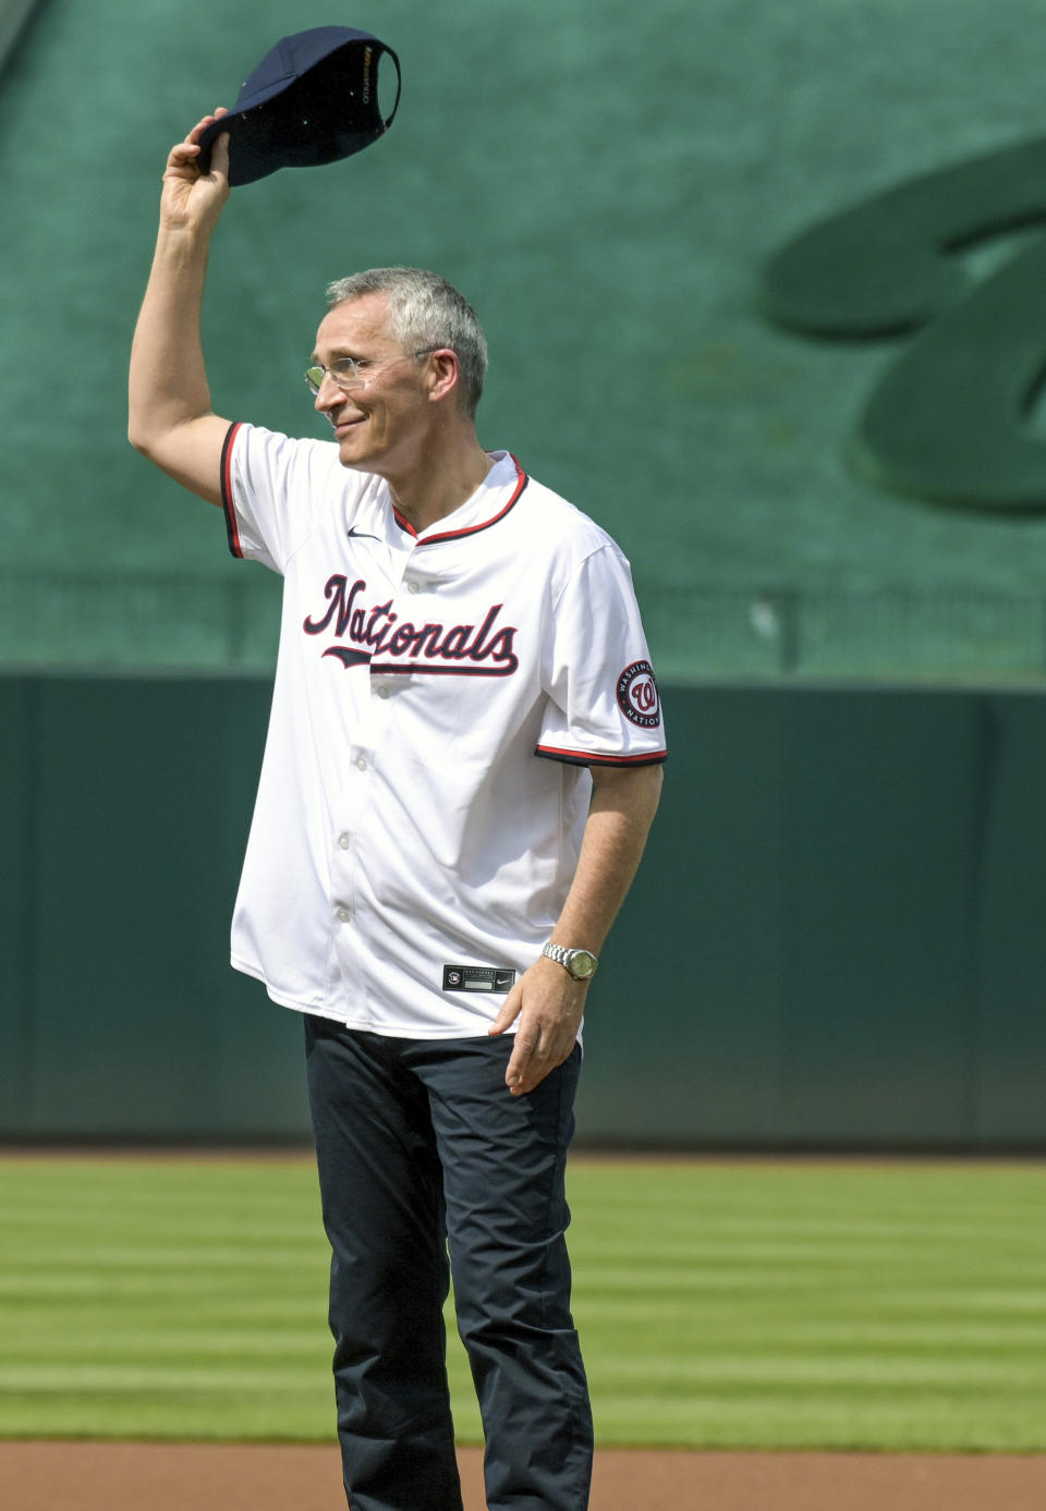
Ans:
POLYGON ((331 367, 342 357, 358 361, 358 378, 339 387, 326 376, 316 408, 328 417, 343 467, 395 476, 413 465, 432 425, 429 370, 387 334, 384 293, 336 305, 316 332, 314 358, 331 367))

